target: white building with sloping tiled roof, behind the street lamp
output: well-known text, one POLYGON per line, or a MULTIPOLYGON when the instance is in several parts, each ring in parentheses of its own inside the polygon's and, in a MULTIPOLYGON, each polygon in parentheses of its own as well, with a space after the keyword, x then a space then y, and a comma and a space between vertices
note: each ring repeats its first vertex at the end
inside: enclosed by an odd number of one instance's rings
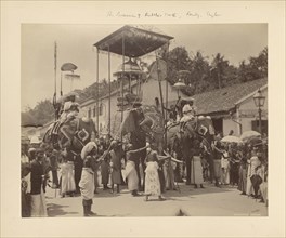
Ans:
POLYGON ((268 134, 268 79, 258 79, 194 95, 198 115, 209 115, 216 131, 235 135, 244 131, 259 131, 258 108, 253 95, 261 90, 265 96, 262 109, 262 132, 268 134))

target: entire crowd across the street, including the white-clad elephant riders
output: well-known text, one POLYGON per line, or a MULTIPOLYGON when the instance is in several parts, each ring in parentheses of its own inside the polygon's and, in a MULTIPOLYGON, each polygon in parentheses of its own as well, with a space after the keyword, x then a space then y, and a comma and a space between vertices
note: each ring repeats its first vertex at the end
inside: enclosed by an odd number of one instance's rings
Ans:
MULTIPOLYGON (((65 105, 70 108, 74 104, 65 105)), ((182 113, 180 130, 186 120, 195 118, 194 106, 186 104, 182 113)), ((170 123, 176 117, 170 117, 170 123)), ((112 194, 120 194, 121 185, 127 185, 131 196, 144 196, 145 201, 156 196, 158 201, 164 201, 162 194, 179 189, 180 182, 193 184, 195 188, 213 183, 217 187, 237 187, 242 195, 259 198, 268 206, 266 142, 224 143, 221 138, 219 133, 211 142, 211 155, 203 142, 197 146, 200 154, 190 158, 192 169, 187 169, 186 161, 176 151, 166 149, 165 156, 159 155, 152 140, 135 148, 130 141, 120 142, 106 135, 87 143, 79 155, 67 148, 56 150, 44 143, 23 144, 22 216, 48 215, 47 186, 60 189, 63 199, 81 195, 84 216, 94 215, 92 199, 101 184, 103 190, 112 194), (144 161, 139 156, 142 151, 145 151, 144 161)))

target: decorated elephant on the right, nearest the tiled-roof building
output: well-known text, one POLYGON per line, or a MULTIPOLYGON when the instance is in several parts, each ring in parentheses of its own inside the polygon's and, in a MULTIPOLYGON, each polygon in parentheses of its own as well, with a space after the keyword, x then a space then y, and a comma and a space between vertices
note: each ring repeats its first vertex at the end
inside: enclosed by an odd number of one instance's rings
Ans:
POLYGON ((167 128, 167 147, 176 151, 185 161, 186 184, 191 185, 191 171, 194 156, 204 154, 210 169, 210 180, 213 177, 213 156, 211 142, 214 140, 214 129, 210 117, 195 116, 185 122, 176 122, 167 128), (207 151, 207 153, 204 153, 207 151))

